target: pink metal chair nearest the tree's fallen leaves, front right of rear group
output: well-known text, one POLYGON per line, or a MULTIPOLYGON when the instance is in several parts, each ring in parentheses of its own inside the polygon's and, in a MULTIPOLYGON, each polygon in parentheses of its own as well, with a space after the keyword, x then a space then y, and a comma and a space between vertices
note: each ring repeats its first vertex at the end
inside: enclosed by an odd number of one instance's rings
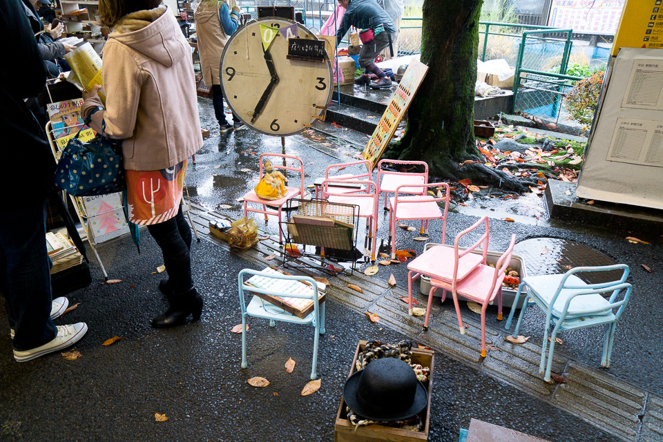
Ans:
POLYGON ((396 258, 396 222, 398 222, 398 220, 421 220, 421 229, 419 229, 421 235, 428 233, 428 222, 430 220, 442 220, 441 243, 444 244, 445 241, 447 212, 449 210, 449 201, 451 200, 451 189, 449 184, 445 182, 436 182, 423 184, 421 186, 421 188, 424 189, 424 192, 431 187, 443 187, 445 190, 443 197, 434 197, 427 193, 424 195, 401 196, 401 189, 405 189, 405 193, 410 193, 407 191, 407 186, 408 184, 404 184, 396 187, 396 193, 390 198, 389 202, 392 207, 389 218, 389 236, 392 241, 392 260, 396 258), (440 209, 438 204, 438 202, 441 201, 444 201, 444 211, 440 209))

